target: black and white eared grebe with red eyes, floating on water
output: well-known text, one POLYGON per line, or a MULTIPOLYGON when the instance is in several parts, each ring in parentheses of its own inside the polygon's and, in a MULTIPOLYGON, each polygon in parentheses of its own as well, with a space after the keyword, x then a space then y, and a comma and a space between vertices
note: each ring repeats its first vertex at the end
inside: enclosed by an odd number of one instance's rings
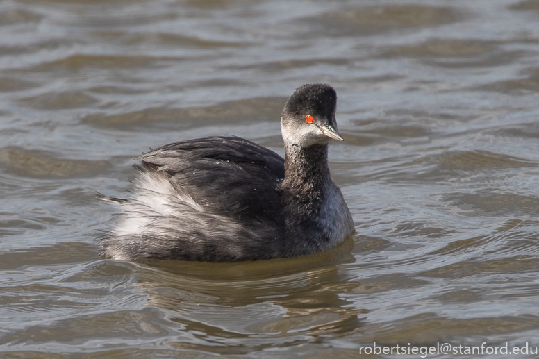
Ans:
POLYGON ((135 191, 102 242, 117 260, 230 262, 329 249, 354 231, 331 181, 337 94, 303 85, 285 103, 285 159, 240 137, 166 144, 137 158, 135 191))

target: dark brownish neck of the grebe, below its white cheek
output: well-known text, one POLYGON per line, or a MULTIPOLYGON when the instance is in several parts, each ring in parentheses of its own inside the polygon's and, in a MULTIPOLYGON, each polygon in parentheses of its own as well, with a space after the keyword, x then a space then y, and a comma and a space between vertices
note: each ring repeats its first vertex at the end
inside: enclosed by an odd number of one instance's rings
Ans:
POLYGON ((285 145, 285 190, 320 198, 324 185, 329 181, 328 144, 309 147, 285 145))

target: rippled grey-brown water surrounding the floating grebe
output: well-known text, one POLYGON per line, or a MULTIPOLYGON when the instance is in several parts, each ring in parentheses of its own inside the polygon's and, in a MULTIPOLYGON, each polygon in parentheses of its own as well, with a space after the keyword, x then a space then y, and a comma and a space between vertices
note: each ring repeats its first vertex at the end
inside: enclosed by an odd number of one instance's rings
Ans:
POLYGON ((1 1, 0 356, 539 345, 538 138, 538 0, 1 1), (286 260, 99 258, 96 192, 122 196, 139 153, 216 134, 283 153, 283 103, 312 82, 338 91, 357 235, 286 260))

